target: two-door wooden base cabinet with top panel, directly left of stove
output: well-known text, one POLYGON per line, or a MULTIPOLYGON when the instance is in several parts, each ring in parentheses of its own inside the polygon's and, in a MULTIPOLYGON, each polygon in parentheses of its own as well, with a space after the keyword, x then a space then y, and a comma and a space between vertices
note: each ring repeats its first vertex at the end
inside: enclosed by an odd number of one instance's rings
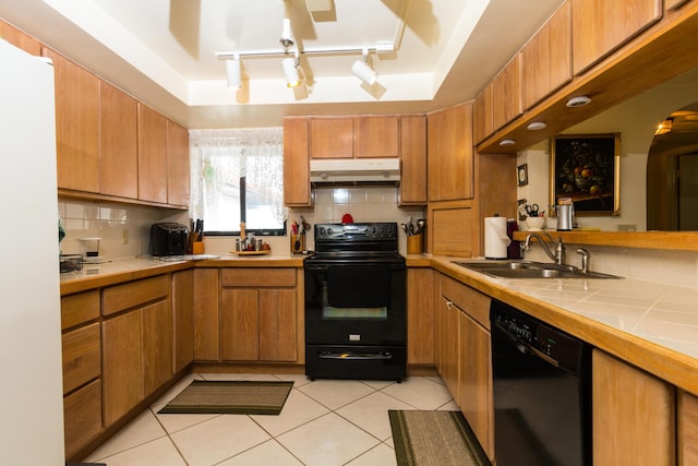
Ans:
POLYGON ((294 268, 222 268, 222 360, 298 359, 294 268))

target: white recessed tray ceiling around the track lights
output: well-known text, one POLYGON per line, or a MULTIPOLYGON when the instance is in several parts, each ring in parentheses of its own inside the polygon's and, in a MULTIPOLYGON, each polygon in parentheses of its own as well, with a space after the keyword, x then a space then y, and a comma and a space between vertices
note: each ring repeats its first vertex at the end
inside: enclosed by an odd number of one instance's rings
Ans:
POLYGON ((290 115, 424 112, 473 99, 563 0, 0 0, 0 16, 191 129, 290 115), (284 19, 305 84, 286 87, 284 19), (363 48, 373 86, 351 74, 363 48), (216 52, 243 52, 240 89, 216 52))

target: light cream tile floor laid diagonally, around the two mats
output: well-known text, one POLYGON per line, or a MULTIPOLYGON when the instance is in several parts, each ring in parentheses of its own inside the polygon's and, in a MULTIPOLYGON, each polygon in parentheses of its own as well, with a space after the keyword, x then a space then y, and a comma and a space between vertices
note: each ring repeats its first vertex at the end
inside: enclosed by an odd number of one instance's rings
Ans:
POLYGON ((193 373, 84 461, 108 466, 394 465, 388 409, 458 408, 438 378, 311 382, 302 374, 193 373), (279 416, 157 414, 194 379, 294 383, 279 416))

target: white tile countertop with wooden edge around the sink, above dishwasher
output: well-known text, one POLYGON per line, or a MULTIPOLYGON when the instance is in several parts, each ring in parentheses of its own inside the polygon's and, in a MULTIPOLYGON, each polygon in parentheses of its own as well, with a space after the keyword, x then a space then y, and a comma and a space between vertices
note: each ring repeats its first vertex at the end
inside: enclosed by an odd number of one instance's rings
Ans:
MULTIPOLYGON (((495 278, 431 266, 698 395, 698 289, 639 279, 495 278)), ((408 260, 408 264, 411 261, 408 260)))

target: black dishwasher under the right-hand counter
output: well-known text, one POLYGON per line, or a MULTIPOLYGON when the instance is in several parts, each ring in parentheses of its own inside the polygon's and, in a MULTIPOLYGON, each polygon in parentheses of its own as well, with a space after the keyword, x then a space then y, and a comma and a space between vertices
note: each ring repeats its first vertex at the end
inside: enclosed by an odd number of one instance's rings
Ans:
POLYGON ((490 320, 497 466, 591 465, 591 347, 496 300, 490 320))

